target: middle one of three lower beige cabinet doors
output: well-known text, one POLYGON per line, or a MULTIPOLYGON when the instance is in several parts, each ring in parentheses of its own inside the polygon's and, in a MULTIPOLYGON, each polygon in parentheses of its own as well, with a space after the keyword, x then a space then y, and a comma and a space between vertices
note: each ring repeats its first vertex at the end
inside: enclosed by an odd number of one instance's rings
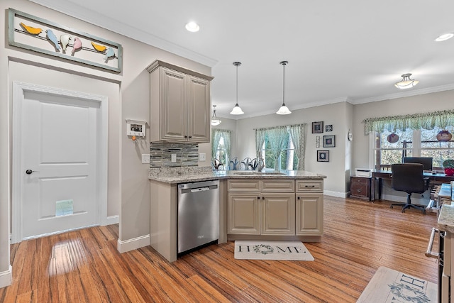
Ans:
POLYGON ((295 195, 293 193, 262 193, 261 234, 295 234, 295 195))

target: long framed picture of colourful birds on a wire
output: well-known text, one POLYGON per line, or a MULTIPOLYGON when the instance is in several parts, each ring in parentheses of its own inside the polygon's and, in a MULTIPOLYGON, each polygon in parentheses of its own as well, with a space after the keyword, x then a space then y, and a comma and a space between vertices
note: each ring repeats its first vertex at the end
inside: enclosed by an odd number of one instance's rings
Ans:
POLYGON ((8 43, 26 50, 121 72, 121 44, 28 13, 8 10, 8 43))

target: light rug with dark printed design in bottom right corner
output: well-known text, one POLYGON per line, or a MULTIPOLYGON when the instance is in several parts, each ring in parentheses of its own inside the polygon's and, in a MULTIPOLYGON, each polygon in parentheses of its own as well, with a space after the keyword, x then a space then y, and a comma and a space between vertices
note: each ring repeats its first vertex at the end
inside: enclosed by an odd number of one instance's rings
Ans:
POLYGON ((380 267, 357 303, 437 302, 437 285, 390 268, 380 267))

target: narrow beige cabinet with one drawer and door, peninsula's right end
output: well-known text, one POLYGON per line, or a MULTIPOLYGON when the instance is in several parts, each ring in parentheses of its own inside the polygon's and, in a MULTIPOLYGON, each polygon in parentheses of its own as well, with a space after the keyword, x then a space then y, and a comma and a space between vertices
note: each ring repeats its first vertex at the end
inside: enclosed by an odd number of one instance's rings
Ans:
POLYGON ((323 180, 297 180, 296 234, 323 235, 323 180))

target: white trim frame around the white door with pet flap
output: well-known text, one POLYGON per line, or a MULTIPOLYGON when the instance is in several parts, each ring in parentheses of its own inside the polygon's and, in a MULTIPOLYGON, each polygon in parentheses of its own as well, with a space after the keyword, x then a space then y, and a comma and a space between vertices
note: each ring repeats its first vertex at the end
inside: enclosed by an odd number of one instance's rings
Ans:
MULTIPOLYGON (((71 97, 86 101, 95 101, 99 103, 97 129, 100 132, 98 148, 97 148, 97 176, 98 176, 98 201, 99 210, 97 211, 96 221, 101 225, 107 224, 107 172, 108 172, 108 108, 107 108, 107 97, 88 94, 85 92, 77 92, 67 89, 60 89, 55 87, 48 87, 37 84, 30 84, 24 82, 13 82, 13 138, 12 138, 12 192, 11 192, 11 243, 18 243, 22 241, 22 183, 21 178, 23 172, 21 172, 22 157, 21 153, 16 153, 18 157, 15 157, 15 151, 21 150, 21 131, 22 131, 22 109, 23 101, 26 92, 40 92, 44 94, 57 95, 62 97, 71 97)), ((58 232, 60 233, 60 231, 58 232)), ((52 233, 49 233, 52 234, 52 233)), ((43 235, 42 235, 43 236, 43 235)))

